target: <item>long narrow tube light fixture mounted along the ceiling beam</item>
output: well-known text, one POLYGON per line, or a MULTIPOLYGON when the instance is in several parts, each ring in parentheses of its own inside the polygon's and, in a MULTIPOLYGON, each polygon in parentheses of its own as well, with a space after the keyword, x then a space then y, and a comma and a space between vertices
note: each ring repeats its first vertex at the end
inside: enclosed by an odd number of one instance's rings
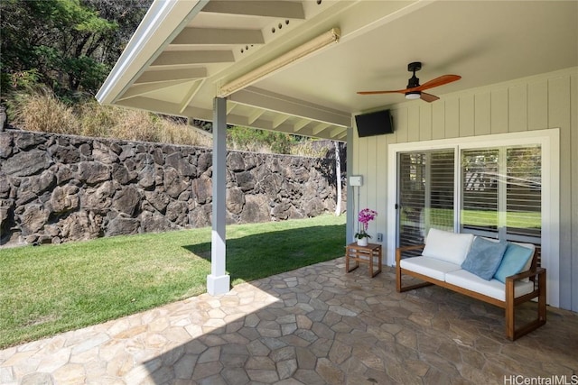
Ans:
POLYGON ((225 97, 244 87, 250 86, 256 81, 265 78, 278 69, 293 63, 294 61, 303 59, 305 56, 321 50, 323 47, 330 45, 333 42, 340 40, 340 29, 331 28, 330 31, 322 33, 311 41, 307 41, 294 50, 290 50, 283 55, 267 62, 266 64, 247 72, 245 75, 228 82, 223 87, 220 87, 219 96, 225 97))

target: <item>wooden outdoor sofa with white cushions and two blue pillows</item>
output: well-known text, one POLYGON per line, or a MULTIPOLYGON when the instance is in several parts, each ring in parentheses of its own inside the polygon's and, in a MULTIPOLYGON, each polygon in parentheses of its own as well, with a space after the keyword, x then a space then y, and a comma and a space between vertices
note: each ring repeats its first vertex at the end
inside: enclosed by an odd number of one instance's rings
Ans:
POLYGON ((425 244, 396 249, 398 292, 438 285, 502 307, 506 336, 515 340, 545 325, 546 270, 539 266, 539 249, 532 243, 498 242, 473 234, 432 228, 425 244), (406 252, 422 250, 406 257, 406 252), (404 275, 424 282, 402 286, 404 275), (516 328, 516 307, 536 300, 536 319, 516 328))

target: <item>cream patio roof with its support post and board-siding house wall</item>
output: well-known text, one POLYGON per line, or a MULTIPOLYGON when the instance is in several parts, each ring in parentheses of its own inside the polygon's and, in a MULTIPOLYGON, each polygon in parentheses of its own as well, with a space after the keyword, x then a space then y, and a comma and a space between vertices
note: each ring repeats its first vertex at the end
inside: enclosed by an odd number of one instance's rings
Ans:
MULTIPOLYGON (((226 293, 230 280, 227 124, 347 142, 349 176, 363 184, 348 186, 357 201, 348 199, 346 239, 353 240, 356 211, 376 209, 370 232, 385 234, 387 265, 400 243, 400 154, 451 148, 458 160, 464 144, 537 147, 543 191, 531 242, 542 245, 548 303, 576 311, 577 17, 573 1, 159 0, 97 98, 213 122, 211 294, 226 293), (404 91, 415 86, 407 80, 415 62, 417 84, 435 87, 404 91), (394 92, 358 94, 374 90, 394 92), (384 110, 393 133, 359 137, 355 116, 384 110)), ((451 169, 456 209, 445 224, 456 232, 467 227, 459 167, 451 169)), ((501 222, 489 236, 528 242, 507 234, 505 211, 494 210, 501 222)))

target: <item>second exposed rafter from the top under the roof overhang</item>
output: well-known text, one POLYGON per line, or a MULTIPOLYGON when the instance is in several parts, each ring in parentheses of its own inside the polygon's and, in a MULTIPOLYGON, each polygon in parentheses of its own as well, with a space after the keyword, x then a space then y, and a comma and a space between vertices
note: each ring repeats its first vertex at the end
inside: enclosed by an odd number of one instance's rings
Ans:
POLYGON ((171 42, 171 45, 263 43, 265 43, 265 40, 260 30, 189 27, 182 30, 171 42))

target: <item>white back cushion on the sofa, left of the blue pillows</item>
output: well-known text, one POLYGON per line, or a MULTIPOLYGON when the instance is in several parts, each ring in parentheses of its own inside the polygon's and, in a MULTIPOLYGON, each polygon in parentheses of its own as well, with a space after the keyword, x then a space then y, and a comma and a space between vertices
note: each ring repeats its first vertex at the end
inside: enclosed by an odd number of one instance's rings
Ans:
POLYGON ((461 265, 470 251, 472 241, 473 234, 450 233, 432 228, 425 238, 422 255, 461 265))

